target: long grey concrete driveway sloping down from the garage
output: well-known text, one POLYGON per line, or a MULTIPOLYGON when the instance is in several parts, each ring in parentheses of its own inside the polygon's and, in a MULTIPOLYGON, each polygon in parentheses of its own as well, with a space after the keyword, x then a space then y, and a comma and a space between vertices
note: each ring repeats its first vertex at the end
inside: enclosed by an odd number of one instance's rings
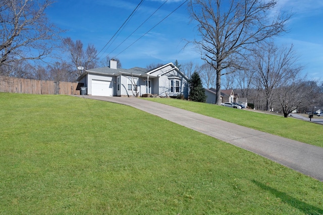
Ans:
POLYGON ((323 148, 246 128, 191 111, 137 98, 79 96, 129 105, 323 181, 323 148))

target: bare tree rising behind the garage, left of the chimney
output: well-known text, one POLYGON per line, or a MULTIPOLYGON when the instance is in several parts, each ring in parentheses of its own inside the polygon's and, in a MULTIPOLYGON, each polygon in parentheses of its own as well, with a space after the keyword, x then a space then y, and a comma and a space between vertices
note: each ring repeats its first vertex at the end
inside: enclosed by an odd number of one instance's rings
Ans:
POLYGON ((88 44, 84 51, 81 40, 76 40, 76 42, 74 42, 71 37, 67 37, 63 39, 62 43, 65 50, 70 55, 71 63, 74 66, 72 71, 76 76, 80 76, 82 73, 81 70, 77 69, 78 66, 83 66, 85 70, 97 67, 97 50, 94 45, 88 44))

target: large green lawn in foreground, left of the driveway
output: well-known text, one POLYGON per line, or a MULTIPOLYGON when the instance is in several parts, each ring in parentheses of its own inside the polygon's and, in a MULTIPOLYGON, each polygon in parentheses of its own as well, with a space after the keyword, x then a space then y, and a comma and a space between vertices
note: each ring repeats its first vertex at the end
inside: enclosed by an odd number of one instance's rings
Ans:
POLYGON ((0 214, 323 214, 321 182, 132 107, 0 93, 0 108, 0 214))

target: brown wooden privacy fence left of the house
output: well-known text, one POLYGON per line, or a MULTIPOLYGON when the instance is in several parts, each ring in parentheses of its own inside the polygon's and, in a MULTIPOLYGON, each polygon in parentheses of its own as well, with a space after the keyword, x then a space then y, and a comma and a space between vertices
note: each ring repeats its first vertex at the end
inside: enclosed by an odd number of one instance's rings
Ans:
POLYGON ((0 77, 0 92, 80 95, 78 83, 0 77))

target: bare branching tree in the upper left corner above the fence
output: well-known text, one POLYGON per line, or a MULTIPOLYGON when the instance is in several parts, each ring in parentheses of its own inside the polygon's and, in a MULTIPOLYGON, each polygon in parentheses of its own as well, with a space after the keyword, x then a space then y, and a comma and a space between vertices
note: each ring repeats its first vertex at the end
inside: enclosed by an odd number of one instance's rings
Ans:
POLYGON ((0 66, 14 61, 43 59, 62 32, 47 20, 51 0, 0 2, 0 66))

